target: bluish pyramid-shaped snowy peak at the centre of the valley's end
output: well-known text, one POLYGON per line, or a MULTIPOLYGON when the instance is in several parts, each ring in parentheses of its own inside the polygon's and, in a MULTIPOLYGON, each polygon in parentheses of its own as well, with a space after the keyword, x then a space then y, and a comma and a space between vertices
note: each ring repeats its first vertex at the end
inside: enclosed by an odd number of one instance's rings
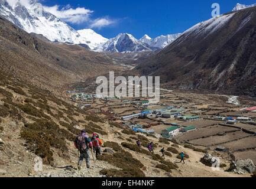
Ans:
POLYGON ((151 51, 152 48, 150 45, 137 40, 131 34, 119 34, 115 38, 108 40, 105 44, 99 47, 98 50, 123 53, 151 51))

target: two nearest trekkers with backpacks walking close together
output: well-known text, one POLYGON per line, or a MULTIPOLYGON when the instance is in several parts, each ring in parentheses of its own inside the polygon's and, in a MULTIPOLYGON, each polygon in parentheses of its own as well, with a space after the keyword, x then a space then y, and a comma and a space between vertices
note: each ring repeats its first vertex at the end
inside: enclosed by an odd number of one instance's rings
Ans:
POLYGON ((90 151, 92 152, 92 157, 94 161, 95 154, 96 158, 101 155, 101 146, 103 145, 102 139, 99 138, 99 135, 96 133, 92 134, 92 137, 89 137, 85 130, 82 130, 80 135, 76 137, 76 140, 74 141, 74 146, 76 149, 78 149, 78 153, 80 152, 80 155, 78 155, 78 170, 81 169, 81 165, 83 162, 83 159, 86 161, 86 167, 90 168, 90 151))

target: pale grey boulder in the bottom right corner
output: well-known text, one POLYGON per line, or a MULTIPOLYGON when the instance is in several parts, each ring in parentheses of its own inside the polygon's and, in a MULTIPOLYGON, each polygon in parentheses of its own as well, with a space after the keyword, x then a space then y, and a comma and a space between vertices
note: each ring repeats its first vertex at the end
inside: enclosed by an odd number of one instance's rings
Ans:
POLYGON ((251 159, 239 159, 231 162, 229 170, 238 174, 252 174, 256 171, 256 166, 251 159))

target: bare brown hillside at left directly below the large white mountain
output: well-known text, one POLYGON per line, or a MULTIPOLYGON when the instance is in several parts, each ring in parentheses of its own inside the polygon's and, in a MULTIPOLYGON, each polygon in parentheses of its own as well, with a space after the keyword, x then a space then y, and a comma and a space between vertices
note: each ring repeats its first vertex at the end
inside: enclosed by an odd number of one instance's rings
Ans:
POLYGON ((111 58, 80 45, 51 43, 1 17, 0 25, 0 69, 37 86, 54 89, 119 69, 111 58))

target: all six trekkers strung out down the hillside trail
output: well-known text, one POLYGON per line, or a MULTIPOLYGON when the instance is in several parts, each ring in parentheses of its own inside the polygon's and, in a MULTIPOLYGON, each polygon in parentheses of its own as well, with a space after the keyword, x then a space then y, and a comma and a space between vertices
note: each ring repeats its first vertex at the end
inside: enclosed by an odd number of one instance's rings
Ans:
MULTIPOLYGON (((141 147, 141 141, 138 140, 137 142, 137 145, 138 147, 140 148, 141 147)), ((99 138, 99 135, 96 134, 96 133, 93 133, 92 134, 92 137, 89 137, 86 133, 85 130, 82 130, 80 135, 78 135, 74 141, 74 146, 76 147, 76 149, 78 150, 77 152, 79 153, 80 152, 80 155, 78 154, 78 164, 77 164, 77 167, 78 167, 78 170, 81 169, 81 165, 82 165, 82 162, 83 162, 83 159, 85 159, 86 161, 86 167, 87 168, 90 168, 90 152, 92 152, 92 157, 93 157, 93 161, 95 160, 94 159, 94 156, 93 154, 95 154, 95 157, 96 159, 98 159, 99 155, 101 155, 101 146, 103 145, 103 141, 102 139, 99 138)), ((150 142, 150 144, 148 144, 147 146, 148 148, 148 151, 150 151, 152 154, 154 154, 154 144, 153 142, 150 142)), ((164 157, 164 153, 166 152, 165 148, 162 148, 159 152, 161 152, 162 154, 162 158, 165 159, 164 157)), ((181 161, 184 162, 184 152, 182 152, 180 154, 180 157, 181 157, 181 161)))

